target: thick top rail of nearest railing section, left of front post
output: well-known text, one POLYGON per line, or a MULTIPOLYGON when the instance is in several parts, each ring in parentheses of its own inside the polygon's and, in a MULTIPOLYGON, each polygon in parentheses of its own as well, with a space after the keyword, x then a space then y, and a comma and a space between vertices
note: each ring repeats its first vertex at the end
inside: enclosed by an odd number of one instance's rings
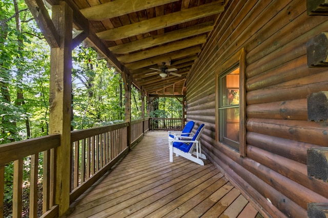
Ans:
POLYGON ((0 166, 19 158, 27 157, 59 146, 59 134, 2 144, 0 146, 0 166))

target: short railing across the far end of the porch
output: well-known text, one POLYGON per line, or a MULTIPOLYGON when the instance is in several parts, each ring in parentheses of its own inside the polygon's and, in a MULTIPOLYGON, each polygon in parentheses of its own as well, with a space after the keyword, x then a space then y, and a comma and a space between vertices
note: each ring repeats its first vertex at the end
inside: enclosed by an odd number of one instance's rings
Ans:
POLYGON ((151 117, 150 130, 182 130, 182 118, 151 117))

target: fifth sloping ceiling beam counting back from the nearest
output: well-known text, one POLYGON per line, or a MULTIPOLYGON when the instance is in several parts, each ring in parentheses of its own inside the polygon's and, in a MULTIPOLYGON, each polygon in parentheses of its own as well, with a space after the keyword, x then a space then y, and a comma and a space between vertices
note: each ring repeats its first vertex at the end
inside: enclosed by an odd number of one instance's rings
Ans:
POLYGON ((136 61, 133 63, 128 63, 125 66, 128 69, 138 69, 138 68, 142 68, 142 67, 146 67, 146 66, 150 66, 153 64, 157 64, 157 63, 161 63, 161 62, 169 62, 172 59, 178 59, 178 58, 183 58, 183 57, 187 57, 190 55, 194 55, 194 54, 198 54, 200 52, 200 46, 196 45, 193 47, 189 47, 188 49, 183 49, 180 50, 178 53, 177 52, 171 52, 165 55, 160 55, 160 56, 156 56, 153 58, 149 58, 149 59, 145 59, 145 60, 141 60, 141 61, 136 61))

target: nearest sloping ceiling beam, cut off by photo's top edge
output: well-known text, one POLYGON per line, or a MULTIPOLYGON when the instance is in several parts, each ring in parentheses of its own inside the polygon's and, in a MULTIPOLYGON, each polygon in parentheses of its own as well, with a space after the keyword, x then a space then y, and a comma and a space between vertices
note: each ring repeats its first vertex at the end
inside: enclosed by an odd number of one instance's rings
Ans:
POLYGON ((133 0, 127 2, 127 0, 116 0, 81 9, 80 12, 89 20, 101 21, 176 1, 177 0, 133 0))

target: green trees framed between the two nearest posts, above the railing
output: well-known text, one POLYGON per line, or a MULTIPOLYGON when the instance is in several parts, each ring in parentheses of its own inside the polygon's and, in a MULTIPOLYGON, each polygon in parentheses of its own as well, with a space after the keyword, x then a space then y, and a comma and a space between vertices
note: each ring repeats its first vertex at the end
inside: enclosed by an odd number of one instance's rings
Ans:
POLYGON ((73 114, 74 129, 124 122, 124 90, 114 68, 105 60, 97 60, 91 48, 78 47, 73 53, 73 114))

